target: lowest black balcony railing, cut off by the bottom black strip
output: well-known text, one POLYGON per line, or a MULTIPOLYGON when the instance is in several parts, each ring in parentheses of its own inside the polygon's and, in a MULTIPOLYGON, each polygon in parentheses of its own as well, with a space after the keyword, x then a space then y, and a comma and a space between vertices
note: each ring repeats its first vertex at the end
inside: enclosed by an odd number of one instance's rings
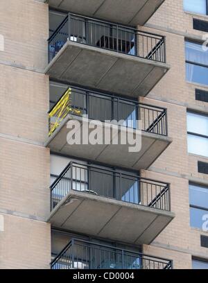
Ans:
POLYGON ((72 239, 52 269, 171 269, 172 261, 139 252, 72 239))

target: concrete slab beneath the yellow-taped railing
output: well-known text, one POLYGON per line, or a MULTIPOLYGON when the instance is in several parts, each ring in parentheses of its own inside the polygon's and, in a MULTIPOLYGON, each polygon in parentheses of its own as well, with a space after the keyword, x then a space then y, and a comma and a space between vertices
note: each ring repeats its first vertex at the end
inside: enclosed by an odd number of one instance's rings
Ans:
MULTIPOLYGON (((73 119, 80 120, 80 130, 82 132, 82 118, 68 114, 60 123, 60 126, 53 132, 45 146, 51 148, 51 151, 71 155, 74 157, 96 160, 114 166, 123 166, 130 169, 148 169, 148 167, 162 154, 162 152, 171 144, 172 139, 150 132, 141 133, 141 151, 129 152, 130 144, 88 144, 88 145, 69 145, 67 142, 67 122, 73 119)), ((89 120, 90 121, 90 120, 89 120)), ((104 126, 103 126, 104 127, 104 126)), ((134 130, 136 132, 136 130, 134 130)), ((90 133, 90 132, 89 132, 90 133)), ((117 136, 120 137, 121 130, 117 136)), ((136 135, 136 134, 135 134, 136 135)))

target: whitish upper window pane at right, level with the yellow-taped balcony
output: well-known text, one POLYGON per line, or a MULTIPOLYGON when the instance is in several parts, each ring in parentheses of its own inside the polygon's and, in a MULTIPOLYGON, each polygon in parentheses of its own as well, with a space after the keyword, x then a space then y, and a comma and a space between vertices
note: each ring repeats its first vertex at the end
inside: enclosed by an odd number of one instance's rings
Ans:
POLYGON ((208 116, 187 112, 187 131, 208 137, 208 116))

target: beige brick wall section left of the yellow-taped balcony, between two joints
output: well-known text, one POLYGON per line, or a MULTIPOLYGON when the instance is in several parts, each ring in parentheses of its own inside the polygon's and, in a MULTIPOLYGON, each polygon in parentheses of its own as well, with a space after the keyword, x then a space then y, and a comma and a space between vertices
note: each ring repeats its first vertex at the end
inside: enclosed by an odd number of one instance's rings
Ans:
POLYGON ((0 65, 0 74, 0 133, 43 144, 48 135, 48 76, 6 65, 0 65))

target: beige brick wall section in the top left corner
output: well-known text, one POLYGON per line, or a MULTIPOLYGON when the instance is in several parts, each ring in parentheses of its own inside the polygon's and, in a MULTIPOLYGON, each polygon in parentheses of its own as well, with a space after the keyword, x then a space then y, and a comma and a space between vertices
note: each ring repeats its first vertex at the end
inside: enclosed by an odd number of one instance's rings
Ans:
POLYGON ((33 0, 1 0, 0 26, 5 40, 0 62, 37 70, 46 67, 48 5, 33 0))

